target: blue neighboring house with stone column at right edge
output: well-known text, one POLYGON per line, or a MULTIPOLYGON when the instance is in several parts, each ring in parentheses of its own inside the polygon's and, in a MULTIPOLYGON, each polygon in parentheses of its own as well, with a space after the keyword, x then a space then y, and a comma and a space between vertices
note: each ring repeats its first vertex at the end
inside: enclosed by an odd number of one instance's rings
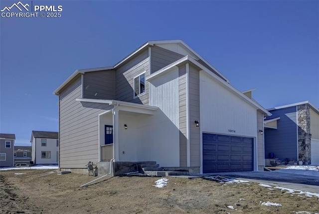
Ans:
POLYGON ((319 165, 319 109, 309 101, 268 109, 265 157, 319 165))

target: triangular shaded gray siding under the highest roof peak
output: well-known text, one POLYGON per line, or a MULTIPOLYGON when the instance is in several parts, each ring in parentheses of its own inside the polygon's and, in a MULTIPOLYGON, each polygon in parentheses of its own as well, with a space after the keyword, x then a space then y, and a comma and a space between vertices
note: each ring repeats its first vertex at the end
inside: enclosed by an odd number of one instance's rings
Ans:
POLYGON ((160 48, 158 46, 151 47, 151 56, 151 73, 158 71, 164 68, 165 66, 168 66, 169 64, 175 62, 176 60, 179 60, 184 57, 181 54, 177 54, 175 52, 169 51, 164 48, 160 48))

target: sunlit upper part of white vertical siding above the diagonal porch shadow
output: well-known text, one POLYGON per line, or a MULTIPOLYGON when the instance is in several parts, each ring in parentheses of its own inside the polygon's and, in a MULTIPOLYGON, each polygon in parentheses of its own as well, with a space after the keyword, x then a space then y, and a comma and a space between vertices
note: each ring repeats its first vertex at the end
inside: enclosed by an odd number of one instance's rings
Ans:
MULTIPOLYGON (((157 106, 179 127, 178 67, 150 82, 150 105, 157 106)), ((179 152, 178 152, 179 153, 179 152)))

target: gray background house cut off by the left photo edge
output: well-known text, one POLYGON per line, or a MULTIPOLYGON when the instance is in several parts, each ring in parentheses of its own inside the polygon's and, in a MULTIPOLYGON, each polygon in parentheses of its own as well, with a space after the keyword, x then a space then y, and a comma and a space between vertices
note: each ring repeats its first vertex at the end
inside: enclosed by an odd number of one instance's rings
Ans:
POLYGON ((13 166, 14 134, 0 134, 0 167, 13 166))

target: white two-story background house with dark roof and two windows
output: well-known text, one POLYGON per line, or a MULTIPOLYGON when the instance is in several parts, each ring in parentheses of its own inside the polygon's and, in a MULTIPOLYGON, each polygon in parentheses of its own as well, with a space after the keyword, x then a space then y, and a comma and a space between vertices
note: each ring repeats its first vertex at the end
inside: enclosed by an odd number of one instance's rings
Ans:
POLYGON ((57 164, 59 157, 59 133, 32 131, 33 164, 57 164))

